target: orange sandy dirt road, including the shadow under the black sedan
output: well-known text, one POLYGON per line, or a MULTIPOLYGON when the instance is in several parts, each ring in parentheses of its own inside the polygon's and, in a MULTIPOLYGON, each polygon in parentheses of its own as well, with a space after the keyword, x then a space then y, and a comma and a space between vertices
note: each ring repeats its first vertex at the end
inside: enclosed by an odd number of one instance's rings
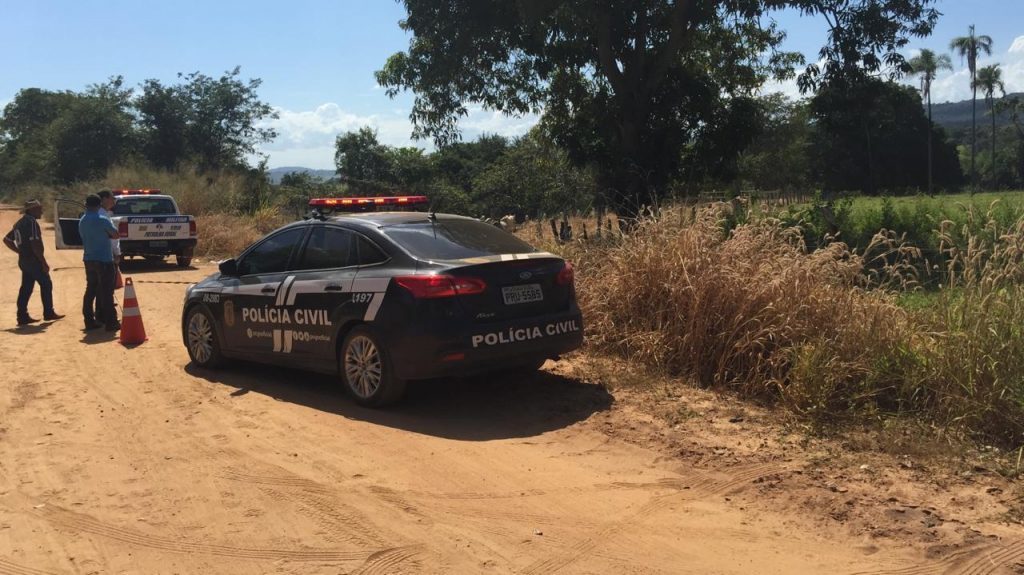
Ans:
POLYGON ((81 254, 44 233, 66 319, 16 328, 0 257, 0 574, 1024 570, 1019 526, 908 502, 932 492, 905 474, 816 468, 748 418, 672 427, 571 361, 414 385, 382 411, 332 378, 197 369, 179 322, 208 262, 125 270, 150 336, 127 349, 82 330, 81 254))

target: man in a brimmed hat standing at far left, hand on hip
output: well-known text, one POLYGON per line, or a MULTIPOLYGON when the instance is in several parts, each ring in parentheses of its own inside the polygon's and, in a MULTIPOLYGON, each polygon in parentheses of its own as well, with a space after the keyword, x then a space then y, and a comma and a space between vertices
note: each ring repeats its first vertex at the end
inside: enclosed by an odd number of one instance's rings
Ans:
POLYGON ((3 245, 17 253, 17 267, 22 269, 22 289, 17 292, 17 324, 28 325, 39 321, 29 316, 29 299, 39 283, 43 298, 43 319, 52 321, 63 315, 53 311, 53 281, 50 266, 43 256, 43 232, 36 221, 43 216, 43 205, 38 200, 25 203, 25 214, 3 238, 3 245))

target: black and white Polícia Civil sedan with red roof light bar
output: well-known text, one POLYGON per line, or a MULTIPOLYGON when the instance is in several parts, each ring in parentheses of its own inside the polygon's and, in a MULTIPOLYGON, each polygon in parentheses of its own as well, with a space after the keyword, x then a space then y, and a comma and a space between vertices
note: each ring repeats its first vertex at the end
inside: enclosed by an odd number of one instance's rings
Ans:
POLYGON ((377 211, 424 196, 316 198, 189 285, 193 362, 224 358, 337 373, 364 405, 410 380, 536 370, 583 344, 572 266, 494 225, 377 211))

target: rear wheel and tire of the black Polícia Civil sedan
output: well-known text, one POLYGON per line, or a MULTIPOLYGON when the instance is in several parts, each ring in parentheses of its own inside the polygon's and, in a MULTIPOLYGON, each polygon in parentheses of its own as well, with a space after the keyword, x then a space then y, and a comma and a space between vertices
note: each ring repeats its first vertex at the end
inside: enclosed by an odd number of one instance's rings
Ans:
POLYGON ((394 374, 391 357, 367 325, 353 327, 341 344, 338 367, 345 390, 359 405, 381 407, 401 399, 406 382, 394 374))

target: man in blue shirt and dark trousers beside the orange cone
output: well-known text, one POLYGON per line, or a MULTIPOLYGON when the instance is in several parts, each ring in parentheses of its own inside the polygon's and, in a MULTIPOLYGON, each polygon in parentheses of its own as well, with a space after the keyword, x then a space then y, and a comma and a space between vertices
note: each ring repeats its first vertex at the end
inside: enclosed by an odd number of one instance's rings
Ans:
POLYGON ((117 272, 114 268, 114 250, 111 239, 118 236, 118 228, 110 218, 99 214, 98 195, 85 198, 85 215, 78 221, 78 232, 82 236, 85 255, 85 297, 82 315, 85 328, 94 329, 104 325, 108 331, 121 328, 117 311, 114 309, 114 282, 117 272), (96 302, 93 314, 92 301, 96 302))

